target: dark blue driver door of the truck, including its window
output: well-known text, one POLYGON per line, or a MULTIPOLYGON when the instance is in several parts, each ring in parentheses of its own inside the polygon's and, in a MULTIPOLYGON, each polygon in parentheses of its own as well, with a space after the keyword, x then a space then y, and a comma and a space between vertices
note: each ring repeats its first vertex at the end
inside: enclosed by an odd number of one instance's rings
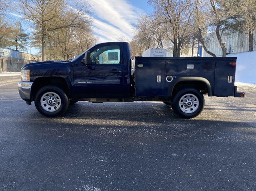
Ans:
POLYGON ((74 95, 78 98, 122 97, 124 78, 119 45, 105 45, 90 51, 90 65, 74 67, 74 95))

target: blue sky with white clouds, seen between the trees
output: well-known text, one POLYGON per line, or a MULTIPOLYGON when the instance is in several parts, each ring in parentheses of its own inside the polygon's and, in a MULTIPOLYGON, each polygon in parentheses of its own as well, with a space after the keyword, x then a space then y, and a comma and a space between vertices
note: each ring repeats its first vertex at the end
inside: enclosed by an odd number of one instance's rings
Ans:
MULTIPOLYGON (((151 14, 148 0, 88 0, 92 5, 92 29, 99 42, 130 41, 140 14, 151 14)), ((12 18, 18 16, 12 14, 12 18)), ((25 26, 26 27, 26 26, 25 26)), ((28 47, 28 53, 30 52, 28 47)), ((32 54, 38 49, 32 48, 32 54)))

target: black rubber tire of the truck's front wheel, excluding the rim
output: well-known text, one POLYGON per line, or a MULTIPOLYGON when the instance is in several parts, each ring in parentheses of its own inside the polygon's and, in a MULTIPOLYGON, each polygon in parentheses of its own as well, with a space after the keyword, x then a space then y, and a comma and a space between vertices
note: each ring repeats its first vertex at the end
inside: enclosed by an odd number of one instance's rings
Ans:
POLYGON ((42 114, 44 116, 47 116, 47 117, 60 116, 60 115, 64 114, 64 112, 66 112, 66 110, 68 109, 68 104, 69 104, 68 96, 66 95, 66 93, 64 93, 64 91, 62 89, 60 89, 60 88, 58 88, 56 86, 45 86, 45 87, 42 87, 36 93, 36 97, 35 97, 36 109, 40 112, 40 114, 42 114), (47 92, 56 93, 60 97, 59 99, 61 100, 61 104, 60 104, 59 108, 56 111, 53 111, 53 112, 47 111, 41 105, 41 98, 47 92))

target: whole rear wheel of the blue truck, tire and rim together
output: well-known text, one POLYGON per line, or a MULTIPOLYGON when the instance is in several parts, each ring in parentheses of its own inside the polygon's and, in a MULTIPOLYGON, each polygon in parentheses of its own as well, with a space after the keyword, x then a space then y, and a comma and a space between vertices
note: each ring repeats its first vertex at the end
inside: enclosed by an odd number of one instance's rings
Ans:
POLYGON ((172 110, 182 118, 194 118, 204 108, 204 96, 200 91, 186 88, 178 91, 173 98, 172 110))

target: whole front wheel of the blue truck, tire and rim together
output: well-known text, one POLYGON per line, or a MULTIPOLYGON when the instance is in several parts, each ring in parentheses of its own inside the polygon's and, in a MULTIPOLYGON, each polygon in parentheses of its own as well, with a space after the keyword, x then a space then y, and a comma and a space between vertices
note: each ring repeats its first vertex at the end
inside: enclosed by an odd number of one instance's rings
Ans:
POLYGON ((44 116, 60 116, 68 108, 68 96, 56 86, 45 86, 36 94, 35 106, 44 116))

